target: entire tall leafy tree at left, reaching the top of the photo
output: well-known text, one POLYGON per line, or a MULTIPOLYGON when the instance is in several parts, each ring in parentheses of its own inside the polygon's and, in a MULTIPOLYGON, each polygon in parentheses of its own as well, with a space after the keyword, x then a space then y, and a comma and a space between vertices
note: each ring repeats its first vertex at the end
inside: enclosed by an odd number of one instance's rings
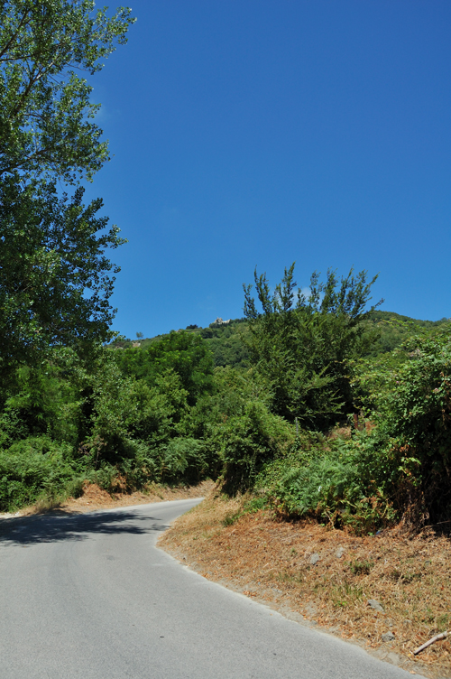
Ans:
POLYGON ((106 340, 115 268, 101 200, 62 199, 56 181, 90 180, 107 160, 95 123, 94 74, 133 19, 91 0, 0 3, 0 372, 63 343, 106 340))

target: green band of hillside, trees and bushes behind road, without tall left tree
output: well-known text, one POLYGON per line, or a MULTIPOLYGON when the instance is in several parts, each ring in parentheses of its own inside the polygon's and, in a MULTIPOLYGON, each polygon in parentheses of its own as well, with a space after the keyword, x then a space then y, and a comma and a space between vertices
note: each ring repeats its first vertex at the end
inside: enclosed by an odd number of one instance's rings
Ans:
POLYGON ((329 272, 302 298, 290 267, 245 288, 244 320, 15 367, 1 507, 209 477, 356 531, 447 520, 450 323, 368 308, 370 289, 329 272))

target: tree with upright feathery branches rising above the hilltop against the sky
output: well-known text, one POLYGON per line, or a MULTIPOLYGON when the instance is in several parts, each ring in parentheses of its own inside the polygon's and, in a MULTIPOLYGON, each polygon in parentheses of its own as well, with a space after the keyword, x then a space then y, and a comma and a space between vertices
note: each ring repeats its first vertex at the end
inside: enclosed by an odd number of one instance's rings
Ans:
POLYGON ((322 283, 315 272, 306 297, 294 281, 294 264, 273 293, 266 275, 255 270, 262 311, 253 286, 244 285, 247 341, 253 364, 268 380, 273 412, 320 429, 352 412, 348 360, 374 340, 364 321, 375 308, 366 311, 376 278, 368 282, 366 271, 354 276, 351 269, 338 281, 329 269, 322 283))

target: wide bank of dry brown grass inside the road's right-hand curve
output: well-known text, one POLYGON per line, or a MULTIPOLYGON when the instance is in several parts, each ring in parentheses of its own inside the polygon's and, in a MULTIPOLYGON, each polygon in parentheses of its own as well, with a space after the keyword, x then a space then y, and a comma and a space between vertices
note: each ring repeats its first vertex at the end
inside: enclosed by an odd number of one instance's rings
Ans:
POLYGON ((160 545, 205 577, 318 624, 413 674, 451 677, 449 640, 415 658, 413 649, 451 628, 451 544, 400 529, 356 537, 268 513, 236 519, 244 498, 217 492, 161 536, 160 545), (338 550, 343 550, 341 557, 338 550), (318 554, 316 565, 311 563, 318 554), (382 604, 384 613, 368 600, 382 604), (382 642, 391 631, 394 640, 382 642))

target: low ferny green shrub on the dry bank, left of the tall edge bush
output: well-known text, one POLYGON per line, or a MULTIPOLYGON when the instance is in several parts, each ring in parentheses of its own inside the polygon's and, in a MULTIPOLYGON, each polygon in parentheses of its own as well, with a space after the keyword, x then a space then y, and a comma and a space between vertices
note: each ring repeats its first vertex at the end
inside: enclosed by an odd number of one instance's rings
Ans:
POLYGON ((304 449, 267 465, 256 488, 282 513, 374 532, 396 516, 391 488, 400 471, 390 450, 377 431, 351 440, 311 437, 304 449))

